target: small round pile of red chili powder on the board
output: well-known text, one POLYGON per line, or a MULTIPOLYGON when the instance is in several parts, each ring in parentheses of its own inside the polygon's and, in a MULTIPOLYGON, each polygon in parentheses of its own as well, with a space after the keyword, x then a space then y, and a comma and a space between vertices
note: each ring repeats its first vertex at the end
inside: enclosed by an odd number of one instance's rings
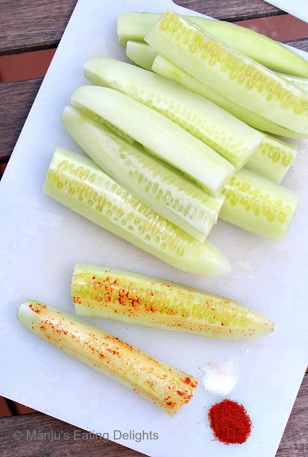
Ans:
POLYGON ((215 438, 224 444, 245 443, 252 430, 251 418, 243 405, 227 398, 210 407, 208 420, 215 438))

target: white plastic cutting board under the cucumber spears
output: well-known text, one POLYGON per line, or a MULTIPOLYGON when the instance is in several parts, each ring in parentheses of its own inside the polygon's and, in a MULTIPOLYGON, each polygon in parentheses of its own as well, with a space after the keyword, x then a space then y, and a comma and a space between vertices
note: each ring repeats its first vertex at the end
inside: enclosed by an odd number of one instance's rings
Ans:
POLYGON ((156 432, 158 440, 119 441, 156 457, 274 457, 307 365, 307 142, 299 143, 299 155, 285 179, 285 185, 301 195, 286 240, 276 244, 219 221, 210 239, 227 254, 233 272, 218 278, 171 268, 41 192, 54 147, 80 151, 60 115, 70 93, 85 83, 83 62, 95 54, 124 59, 116 35, 120 11, 164 8, 184 10, 169 0, 79 0, 38 92, 0 187, 0 394, 78 428, 109 432, 110 439, 113 430, 156 432), (212 441, 206 412, 220 398, 205 393, 201 383, 191 402, 170 418, 22 327, 15 315, 28 298, 74 312, 70 278, 76 261, 230 296, 275 321, 275 331, 267 337, 228 342, 88 319, 198 378, 208 361, 234 358, 239 382, 230 397, 251 414, 254 428, 247 443, 224 446, 212 441))

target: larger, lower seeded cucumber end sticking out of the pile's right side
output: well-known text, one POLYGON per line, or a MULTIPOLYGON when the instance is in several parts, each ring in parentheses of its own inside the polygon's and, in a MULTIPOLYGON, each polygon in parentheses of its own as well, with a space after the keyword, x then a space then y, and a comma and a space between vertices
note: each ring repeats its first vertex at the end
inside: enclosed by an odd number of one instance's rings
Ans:
POLYGON ((243 168, 225 186, 219 218, 274 241, 283 241, 298 197, 285 187, 243 168))

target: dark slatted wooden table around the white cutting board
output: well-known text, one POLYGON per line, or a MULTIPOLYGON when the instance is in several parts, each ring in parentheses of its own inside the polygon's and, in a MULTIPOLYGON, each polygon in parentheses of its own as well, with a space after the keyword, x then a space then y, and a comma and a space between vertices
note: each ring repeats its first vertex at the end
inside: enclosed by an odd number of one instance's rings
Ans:
MULTIPOLYGON (((285 14, 284 11, 263 0, 176 0, 176 3, 226 21, 285 14)), ((0 0, 0 55, 56 47, 75 4, 76 0, 0 0)), ((308 38, 294 40, 288 44, 308 51, 308 38)), ((9 160, 41 83, 41 78, 0 83, 2 112, 0 163, 9 160)), ((281 375, 287 374, 281 373, 281 375)), ((0 418, 0 455, 9 457, 143 455, 113 442, 105 443, 97 439, 74 441, 74 429, 73 426, 42 413, 0 418), (60 439, 31 441, 27 437, 27 430, 30 432, 36 430, 36 433, 60 432, 60 439), (64 433, 67 433, 68 439, 64 439, 64 433)), ((294 456, 308 457, 308 373, 303 378, 276 454, 276 457, 294 456)))

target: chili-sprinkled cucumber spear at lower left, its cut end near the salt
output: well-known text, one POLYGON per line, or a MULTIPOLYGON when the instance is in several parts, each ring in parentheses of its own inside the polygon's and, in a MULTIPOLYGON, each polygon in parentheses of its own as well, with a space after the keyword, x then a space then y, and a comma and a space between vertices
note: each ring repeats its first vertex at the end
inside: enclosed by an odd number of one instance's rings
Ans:
POLYGON ((160 406, 169 416, 189 402, 198 380, 99 327, 36 300, 17 318, 30 332, 160 406))

